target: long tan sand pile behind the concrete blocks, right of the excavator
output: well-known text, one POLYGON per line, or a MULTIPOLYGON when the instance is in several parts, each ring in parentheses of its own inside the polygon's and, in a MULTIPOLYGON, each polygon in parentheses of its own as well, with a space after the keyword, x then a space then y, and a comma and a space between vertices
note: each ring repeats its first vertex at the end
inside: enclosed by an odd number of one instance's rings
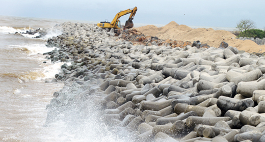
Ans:
POLYGON ((219 47, 221 42, 224 41, 230 46, 237 47, 239 50, 245 50, 246 52, 265 52, 265 45, 257 45, 251 40, 243 41, 235 39, 236 36, 228 31, 215 31, 211 28, 192 29, 187 25, 179 25, 174 21, 171 21, 163 27, 146 25, 137 27, 136 30, 142 32, 145 35, 155 36, 160 39, 190 42, 199 40, 202 44, 207 43, 209 46, 213 47, 219 47))

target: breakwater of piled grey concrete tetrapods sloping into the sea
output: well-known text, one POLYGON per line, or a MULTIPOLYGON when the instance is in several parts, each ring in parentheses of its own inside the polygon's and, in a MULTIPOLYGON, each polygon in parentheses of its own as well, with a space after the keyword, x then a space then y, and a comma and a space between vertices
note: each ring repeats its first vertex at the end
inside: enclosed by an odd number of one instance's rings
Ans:
MULTIPOLYGON (((65 87, 46 125, 93 104, 137 141, 264 141, 265 59, 234 47, 134 45, 95 25, 66 22, 47 46, 65 87), (70 111, 69 111, 70 110, 70 111)), ((81 115, 81 113, 83 115, 81 115)))

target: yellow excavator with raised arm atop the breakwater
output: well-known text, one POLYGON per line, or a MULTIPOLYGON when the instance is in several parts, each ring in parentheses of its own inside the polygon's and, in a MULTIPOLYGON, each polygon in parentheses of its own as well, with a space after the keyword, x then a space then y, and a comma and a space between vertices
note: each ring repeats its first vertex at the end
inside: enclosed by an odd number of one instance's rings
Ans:
POLYGON ((137 7, 133 8, 133 9, 127 9, 124 11, 121 11, 119 13, 116 14, 116 16, 114 17, 114 19, 112 20, 112 22, 100 22, 97 23, 97 26, 102 27, 104 29, 121 29, 121 25, 120 25, 120 17, 127 15, 130 13, 130 17, 129 19, 125 22, 124 28, 125 29, 130 29, 131 27, 134 27, 134 23, 133 23, 133 19, 135 16, 135 13, 137 11, 137 7))

